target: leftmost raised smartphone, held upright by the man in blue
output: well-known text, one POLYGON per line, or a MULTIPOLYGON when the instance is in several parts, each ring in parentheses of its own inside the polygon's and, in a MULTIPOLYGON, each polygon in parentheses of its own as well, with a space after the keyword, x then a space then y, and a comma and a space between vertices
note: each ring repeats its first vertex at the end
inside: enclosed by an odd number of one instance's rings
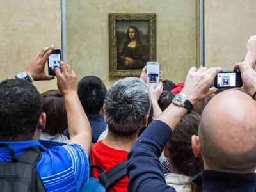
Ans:
POLYGON ((48 74, 55 76, 54 68, 58 67, 61 70, 61 65, 59 61, 61 60, 60 49, 54 49, 48 58, 48 74))

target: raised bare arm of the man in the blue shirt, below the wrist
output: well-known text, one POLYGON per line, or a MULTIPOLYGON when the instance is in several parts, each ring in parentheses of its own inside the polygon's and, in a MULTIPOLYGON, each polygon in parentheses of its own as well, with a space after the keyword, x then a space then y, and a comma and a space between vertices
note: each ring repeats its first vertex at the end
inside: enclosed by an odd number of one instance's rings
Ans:
POLYGON ((86 152, 90 154, 92 131, 79 97, 77 93, 72 93, 65 95, 64 100, 67 110, 68 132, 70 134, 69 143, 79 143, 83 145, 86 152))

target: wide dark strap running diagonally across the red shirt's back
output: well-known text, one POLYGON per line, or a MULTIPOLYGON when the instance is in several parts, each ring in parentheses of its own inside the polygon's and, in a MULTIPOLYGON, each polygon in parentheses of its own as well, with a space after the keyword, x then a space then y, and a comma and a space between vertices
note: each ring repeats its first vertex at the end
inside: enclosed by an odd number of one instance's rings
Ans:
POLYGON ((128 160, 122 161, 121 163, 117 164, 108 172, 100 173, 99 180, 100 183, 104 186, 104 188, 110 188, 115 182, 125 175, 127 175, 127 164, 128 160))

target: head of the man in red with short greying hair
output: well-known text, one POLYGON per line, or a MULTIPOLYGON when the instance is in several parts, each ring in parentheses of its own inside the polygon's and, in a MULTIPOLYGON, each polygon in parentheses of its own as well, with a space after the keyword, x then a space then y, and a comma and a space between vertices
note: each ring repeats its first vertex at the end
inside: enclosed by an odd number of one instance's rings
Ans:
POLYGON ((147 124, 150 111, 147 84, 136 77, 117 81, 107 93, 104 112, 109 131, 118 137, 132 137, 147 124))

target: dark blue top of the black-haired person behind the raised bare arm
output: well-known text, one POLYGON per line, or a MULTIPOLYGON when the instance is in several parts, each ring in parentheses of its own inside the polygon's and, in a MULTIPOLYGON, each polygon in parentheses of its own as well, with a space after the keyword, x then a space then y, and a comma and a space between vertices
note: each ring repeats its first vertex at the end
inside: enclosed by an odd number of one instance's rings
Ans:
MULTIPOLYGON (((92 129, 92 143, 97 143, 100 134, 107 129, 107 124, 102 115, 99 114, 88 114, 88 120, 92 129)), ((63 134, 70 139, 68 134, 68 129, 66 129, 63 134)))

